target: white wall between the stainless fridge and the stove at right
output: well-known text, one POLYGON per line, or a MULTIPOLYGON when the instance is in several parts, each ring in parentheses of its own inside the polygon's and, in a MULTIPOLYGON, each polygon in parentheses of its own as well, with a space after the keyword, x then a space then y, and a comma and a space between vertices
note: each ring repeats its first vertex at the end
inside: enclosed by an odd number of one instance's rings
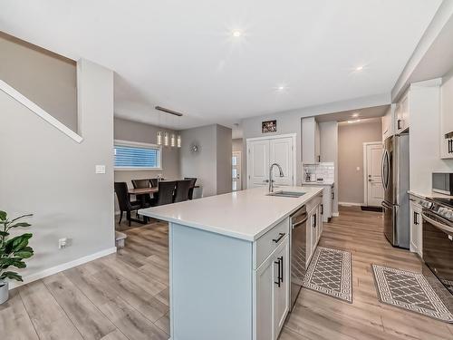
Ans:
MULTIPOLYGON (((453 96, 453 92, 444 95, 453 96)), ((439 86, 430 86, 429 82, 411 84, 409 105, 410 189, 429 195, 432 172, 453 172, 453 160, 440 159, 439 86)))

